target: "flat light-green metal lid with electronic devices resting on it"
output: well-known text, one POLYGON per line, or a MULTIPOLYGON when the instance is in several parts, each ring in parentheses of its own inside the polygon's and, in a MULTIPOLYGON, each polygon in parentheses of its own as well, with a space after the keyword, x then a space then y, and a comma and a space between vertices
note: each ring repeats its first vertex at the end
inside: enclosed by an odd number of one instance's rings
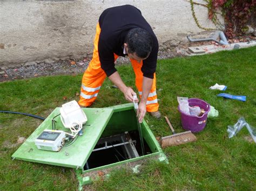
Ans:
MULTIPOLYGON (((38 126, 32 135, 12 154, 12 158, 31 162, 39 162, 49 165, 57 165, 71 168, 83 168, 87 159, 102 135, 109 122, 113 109, 111 108, 83 108, 88 121, 83 125, 83 135, 70 146, 63 147, 60 151, 39 150, 35 145, 35 140, 45 129, 52 129, 52 118, 60 114, 60 108, 56 108, 38 126)), ((56 130, 70 132, 64 128, 60 121, 60 116, 55 118, 56 130)), ((75 138, 76 139, 76 138, 75 138)))

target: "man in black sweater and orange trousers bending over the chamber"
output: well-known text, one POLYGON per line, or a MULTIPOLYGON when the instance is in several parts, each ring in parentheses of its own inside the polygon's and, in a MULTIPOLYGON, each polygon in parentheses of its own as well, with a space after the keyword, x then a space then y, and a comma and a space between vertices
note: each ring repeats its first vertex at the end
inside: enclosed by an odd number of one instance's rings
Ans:
POLYGON ((89 107, 96 100, 106 76, 127 101, 139 102, 133 100, 136 93, 124 84, 114 67, 118 56, 129 56, 140 97, 139 122, 143 121, 146 111, 160 118, 156 93, 157 54, 157 37, 139 9, 132 5, 106 9, 96 27, 93 56, 83 75, 79 105, 89 107))

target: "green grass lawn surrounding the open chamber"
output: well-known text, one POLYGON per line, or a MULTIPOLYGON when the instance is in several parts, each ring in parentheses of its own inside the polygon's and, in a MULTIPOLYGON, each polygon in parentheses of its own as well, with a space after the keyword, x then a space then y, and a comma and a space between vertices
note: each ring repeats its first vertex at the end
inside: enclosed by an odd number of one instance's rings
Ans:
MULTIPOLYGON (((127 86, 134 86, 131 65, 117 67, 127 86)), ((63 103, 79 99, 82 74, 47 76, 0 83, 0 110, 20 111, 47 117, 63 103), (66 99, 65 99, 66 98, 66 99)), ((106 80, 94 108, 126 103, 118 89, 106 80)), ((167 115, 177 132, 181 128, 177 96, 196 97, 210 103, 219 117, 208 119, 197 133, 197 142, 164 149, 170 164, 150 161, 142 171, 114 171, 106 181, 96 181, 90 189, 202 189, 255 190, 256 146, 246 140, 246 128, 234 138, 227 137, 227 125, 244 116, 256 127, 256 47, 223 51, 211 55, 159 60, 157 88, 160 111, 167 115), (246 102, 226 100, 210 90, 215 83, 225 84, 225 93, 246 95, 246 102)), ((170 135, 164 120, 145 117, 156 137, 170 135)), ((0 190, 77 189, 70 168, 11 160, 17 139, 28 138, 42 121, 12 114, 0 114, 0 190), (65 171, 65 172, 64 172, 65 171)), ((88 187, 87 187, 88 188, 88 187)))

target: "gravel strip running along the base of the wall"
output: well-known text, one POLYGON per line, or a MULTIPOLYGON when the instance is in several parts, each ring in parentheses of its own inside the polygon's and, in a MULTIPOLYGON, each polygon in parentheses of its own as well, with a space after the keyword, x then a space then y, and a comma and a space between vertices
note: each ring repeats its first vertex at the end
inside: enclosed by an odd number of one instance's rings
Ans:
MULTIPOLYGON (((255 40, 255 37, 242 38, 239 39, 230 39, 229 43, 239 43, 250 41, 251 39, 255 40)), ((188 47, 190 46, 202 46, 202 45, 212 45, 220 46, 214 41, 203 41, 196 43, 187 43, 185 45, 179 44, 178 46, 171 46, 164 50, 159 50, 158 59, 167 59, 174 58, 177 56, 186 56, 191 54, 188 52, 188 47)), ((38 76, 51 76, 51 75, 72 75, 84 73, 85 69, 89 65, 91 58, 84 58, 83 60, 67 60, 67 61, 58 61, 54 63, 38 63, 31 66, 21 66, 17 68, 8 68, 5 70, 0 70, 0 82, 3 81, 12 81, 16 79, 28 79, 30 77, 38 76)), ((116 61, 116 65, 130 64, 128 58, 119 57, 116 61)))

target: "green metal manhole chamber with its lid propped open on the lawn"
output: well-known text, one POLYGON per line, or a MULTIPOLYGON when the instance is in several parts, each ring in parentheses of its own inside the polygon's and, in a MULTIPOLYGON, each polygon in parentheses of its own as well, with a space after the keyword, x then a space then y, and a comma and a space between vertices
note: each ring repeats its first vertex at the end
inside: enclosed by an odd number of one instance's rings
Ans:
MULTIPOLYGON (((51 129, 52 118, 59 114, 59 109, 53 110, 12 154, 13 159, 73 168, 79 181, 78 189, 97 178, 92 176, 94 172, 110 172, 110 169, 124 164, 139 164, 146 159, 168 162, 145 120, 141 124, 145 147, 142 154, 136 111, 132 103, 109 108, 84 108, 88 121, 83 135, 75 143, 58 152, 39 150, 35 139, 44 130, 51 129)), ((56 117, 55 120, 56 128, 65 130, 60 118, 56 117)))

